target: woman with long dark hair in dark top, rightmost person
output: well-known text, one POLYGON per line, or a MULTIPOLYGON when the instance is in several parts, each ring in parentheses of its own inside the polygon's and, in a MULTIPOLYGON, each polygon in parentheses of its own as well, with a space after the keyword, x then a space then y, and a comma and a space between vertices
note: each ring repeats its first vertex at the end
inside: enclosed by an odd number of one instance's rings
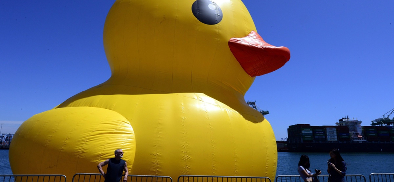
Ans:
POLYGON ((329 152, 331 159, 327 161, 327 172, 329 173, 329 182, 345 182, 346 163, 343 160, 338 149, 329 152))

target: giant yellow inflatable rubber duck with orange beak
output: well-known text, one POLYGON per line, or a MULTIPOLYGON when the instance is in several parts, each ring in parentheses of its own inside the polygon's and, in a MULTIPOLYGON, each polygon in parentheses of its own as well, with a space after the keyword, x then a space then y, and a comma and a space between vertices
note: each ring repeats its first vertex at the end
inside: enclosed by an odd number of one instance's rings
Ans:
POLYGON ((17 130, 14 174, 98 173, 121 148, 129 174, 275 177, 271 125, 244 95, 290 52, 263 41, 240 0, 117 0, 104 48, 106 82, 17 130))

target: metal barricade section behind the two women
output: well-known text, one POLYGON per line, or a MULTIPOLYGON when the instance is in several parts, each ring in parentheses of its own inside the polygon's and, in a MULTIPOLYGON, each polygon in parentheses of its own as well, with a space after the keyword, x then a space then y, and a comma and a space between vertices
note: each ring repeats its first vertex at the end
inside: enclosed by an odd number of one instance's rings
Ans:
MULTIPOLYGON (((318 175, 319 182, 327 182, 329 175, 318 175)), ((364 175, 346 175, 346 182, 366 182, 364 175)), ((275 182, 304 182, 300 175, 279 175, 275 182)))

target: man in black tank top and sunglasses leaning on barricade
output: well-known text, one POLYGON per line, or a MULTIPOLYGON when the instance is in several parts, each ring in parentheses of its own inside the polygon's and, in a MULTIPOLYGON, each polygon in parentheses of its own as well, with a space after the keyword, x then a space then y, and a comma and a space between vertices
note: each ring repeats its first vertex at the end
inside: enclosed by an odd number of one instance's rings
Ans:
POLYGON ((125 160, 122 160, 123 151, 122 149, 115 150, 115 158, 110 158, 105 160, 104 162, 99 163, 97 168, 100 173, 104 176, 104 182, 120 182, 122 178, 122 173, 125 171, 125 177, 123 178, 123 182, 127 182, 127 175, 129 175, 129 171, 127 170, 127 164, 125 160), (105 174, 102 170, 102 167, 108 164, 107 173, 105 174))

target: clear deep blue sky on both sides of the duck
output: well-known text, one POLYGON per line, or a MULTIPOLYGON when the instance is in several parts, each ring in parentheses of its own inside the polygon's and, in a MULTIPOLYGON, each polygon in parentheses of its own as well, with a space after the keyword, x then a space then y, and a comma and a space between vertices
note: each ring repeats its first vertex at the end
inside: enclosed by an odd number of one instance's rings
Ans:
MULTIPOLYGON (((113 2, 0 2, 2 133, 110 77, 102 33, 113 2)), ((291 52, 245 95, 269 110, 277 140, 289 125, 349 115, 364 126, 394 108, 394 1, 244 3, 263 39, 291 52)))

